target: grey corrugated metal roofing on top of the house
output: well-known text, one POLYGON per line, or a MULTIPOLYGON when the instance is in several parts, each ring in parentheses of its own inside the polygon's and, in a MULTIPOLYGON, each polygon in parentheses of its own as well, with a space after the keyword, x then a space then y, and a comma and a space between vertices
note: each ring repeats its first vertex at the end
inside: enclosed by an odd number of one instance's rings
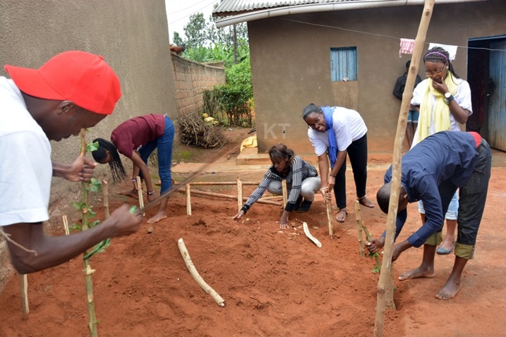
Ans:
MULTIPOLYGON (((213 16, 229 16, 248 11, 260 9, 297 6, 306 4, 330 4, 336 2, 353 2, 363 0, 223 0, 219 6, 212 11, 213 16)), ((377 0, 375 0, 377 1, 377 0)))

